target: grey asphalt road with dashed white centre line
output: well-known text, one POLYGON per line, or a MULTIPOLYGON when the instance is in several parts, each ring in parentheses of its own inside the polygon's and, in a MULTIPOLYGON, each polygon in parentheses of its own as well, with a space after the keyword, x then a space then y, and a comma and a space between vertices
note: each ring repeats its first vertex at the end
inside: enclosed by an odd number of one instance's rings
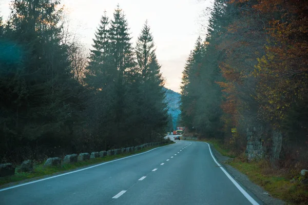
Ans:
POLYGON ((0 204, 258 204, 236 186, 207 144, 177 140, 93 168, 2 189, 0 204))

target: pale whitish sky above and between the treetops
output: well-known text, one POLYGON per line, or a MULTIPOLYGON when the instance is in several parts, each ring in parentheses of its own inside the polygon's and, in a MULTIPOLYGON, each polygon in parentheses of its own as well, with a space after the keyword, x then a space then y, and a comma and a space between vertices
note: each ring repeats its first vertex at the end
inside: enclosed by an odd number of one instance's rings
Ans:
MULTIPOLYGON (((9 15, 9 2, 0 0, 0 11, 4 20, 9 15)), ((107 11, 112 13, 117 5, 124 11, 132 43, 135 45, 145 20, 148 20, 157 47, 156 53, 165 86, 180 92, 182 71, 186 58, 199 34, 204 33, 200 24, 204 24, 203 10, 210 1, 203 0, 62 0, 69 13, 72 32, 77 32, 80 41, 91 48, 92 38, 100 18, 107 11), (202 22, 203 21, 203 22, 202 22), (201 32, 201 33, 200 33, 201 32)))

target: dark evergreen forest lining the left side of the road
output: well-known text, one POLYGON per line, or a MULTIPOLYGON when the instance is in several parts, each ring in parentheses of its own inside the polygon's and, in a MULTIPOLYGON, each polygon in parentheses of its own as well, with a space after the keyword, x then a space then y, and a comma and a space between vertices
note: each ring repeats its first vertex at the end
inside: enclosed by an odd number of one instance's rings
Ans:
POLYGON ((133 47, 122 9, 103 12, 89 56, 68 26, 55 0, 15 0, 0 18, 1 162, 160 141, 172 126, 146 21, 133 47))

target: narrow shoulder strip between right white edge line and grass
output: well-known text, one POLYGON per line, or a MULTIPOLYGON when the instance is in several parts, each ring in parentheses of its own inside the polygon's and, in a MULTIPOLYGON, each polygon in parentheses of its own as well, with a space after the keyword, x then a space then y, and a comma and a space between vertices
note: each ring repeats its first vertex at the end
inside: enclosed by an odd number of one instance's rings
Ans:
MULTIPOLYGON (((210 144, 210 143, 208 143, 210 144)), ((238 181, 239 183, 241 183, 241 186, 245 187, 247 190, 249 190, 249 192, 253 193, 256 197, 258 197, 258 199, 260 199, 264 204, 270 204, 270 205, 280 205, 280 204, 286 204, 286 202, 274 198, 270 195, 268 195, 268 193, 260 186, 256 185, 255 183, 253 183, 251 180, 249 180, 249 178, 243 174, 242 172, 238 171, 237 169, 235 169, 234 167, 227 165, 226 161, 231 159, 230 157, 227 156, 223 156, 222 154, 220 154, 220 152, 218 152, 214 146, 210 145, 210 148, 215 156, 215 158, 220 162, 221 166, 223 166, 225 168, 225 170, 233 176, 233 178, 238 181)))

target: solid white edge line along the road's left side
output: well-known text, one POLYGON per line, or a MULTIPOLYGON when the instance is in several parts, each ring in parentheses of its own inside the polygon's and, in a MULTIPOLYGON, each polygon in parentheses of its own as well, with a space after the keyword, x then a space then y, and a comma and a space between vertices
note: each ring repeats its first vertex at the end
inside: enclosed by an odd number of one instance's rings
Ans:
MULTIPOLYGON (((176 142, 175 144, 177 144, 177 142, 176 142)), ((171 144, 171 145, 175 145, 175 144, 171 144)), ((76 170, 76 171, 72 171, 72 172, 67 172, 67 173, 64 173, 64 174, 59 174, 59 175, 51 176, 51 177, 44 178, 44 179, 39 179, 39 180, 35 180, 35 181, 30 181, 30 182, 27 182, 27 183, 22 183, 21 185, 16 185, 16 186, 13 186, 13 187, 8 187, 8 188, 0 189, 0 192, 5 191, 5 190, 9 190, 9 189, 14 189, 14 188, 17 188, 17 187, 22 187, 22 186, 25 186, 25 185, 30 185, 31 183, 36 183, 36 182, 39 182, 39 181, 44 181, 44 180, 47 180, 47 179, 52 179, 52 178, 64 176, 64 175, 67 175, 67 174, 72 174, 72 173, 75 173, 75 172, 84 171, 84 170, 87 170, 87 169, 91 169, 91 168, 94 168, 94 167, 98 167, 98 166, 101 166, 101 165, 105 165, 106 163, 110 163, 110 162, 113 162, 113 161, 119 161, 119 160, 122 160, 122 159, 127 159, 127 158, 130 158, 130 157, 138 156, 138 155, 145 154, 145 153, 147 153, 147 152, 151 152, 151 151, 153 151, 153 150, 156 150, 156 149, 159 149, 159 148, 163 148, 163 147, 168 147, 168 146, 170 146, 170 145, 166 145, 166 146, 162 146, 162 147, 153 148, 153 149, 151 149, 151 150, 149 150, 149 151, 142 152, 142 153, 139 153, 139 154, 130 155, 130 156, 123 157, 123 158, 120 158, 120 159, 114 159, 114 160, 112 160, 112 161, 106 161, 106 162, 104 162, 104 163, 100 163, 99 165, 94 165, 94 166, 87 167, 87 168, 84 168, 84 169, 80 169, 80 170, 76 170)))

